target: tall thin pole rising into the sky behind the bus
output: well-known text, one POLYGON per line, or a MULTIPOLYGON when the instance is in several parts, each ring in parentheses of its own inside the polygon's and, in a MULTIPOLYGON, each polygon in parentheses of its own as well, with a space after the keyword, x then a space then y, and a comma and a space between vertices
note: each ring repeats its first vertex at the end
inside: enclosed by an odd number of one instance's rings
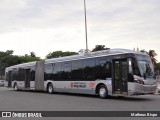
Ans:
POLYGON ((85 14, 86 53, 88 53, 87 15, 86 15, 86 1, 85 0, 84 0, 84 14, 85 14))

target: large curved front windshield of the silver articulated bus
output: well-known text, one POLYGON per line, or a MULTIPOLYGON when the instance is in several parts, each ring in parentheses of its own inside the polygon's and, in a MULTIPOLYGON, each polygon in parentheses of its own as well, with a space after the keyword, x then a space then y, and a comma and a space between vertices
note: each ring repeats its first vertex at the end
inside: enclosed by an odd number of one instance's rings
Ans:
POLYGON ((144 78, 151 78, 154 76, 154 69, 149 56, 139 55, 138 66, 139 66, 140 74, 144 78))

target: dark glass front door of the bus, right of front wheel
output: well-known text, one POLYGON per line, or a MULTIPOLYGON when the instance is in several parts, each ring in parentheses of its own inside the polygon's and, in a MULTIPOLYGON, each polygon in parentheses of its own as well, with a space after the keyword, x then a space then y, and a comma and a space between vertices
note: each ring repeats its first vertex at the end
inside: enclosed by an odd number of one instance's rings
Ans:
POLYGON ((113 94, 127 95, 127 59, 113 61, 113 94))

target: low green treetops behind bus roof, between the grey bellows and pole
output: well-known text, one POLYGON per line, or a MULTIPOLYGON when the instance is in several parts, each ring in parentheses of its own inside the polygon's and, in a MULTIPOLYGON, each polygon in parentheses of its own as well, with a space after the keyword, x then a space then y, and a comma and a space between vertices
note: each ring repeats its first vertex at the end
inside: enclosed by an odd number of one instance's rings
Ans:
POLYGON ((50 58, 57 58, 57 57, 63 57, 63 56, 71 56, 71 55, 76 55, 76 54, 78 54, 78 53, 76 53, 76 52, 69 52, 69 51, 67 51, 67 52, 62 52, 62 51, 54 51, 54 52, 50 52, 47 56, 46 56, 46 58, 47 59, 50 59, 50 58))

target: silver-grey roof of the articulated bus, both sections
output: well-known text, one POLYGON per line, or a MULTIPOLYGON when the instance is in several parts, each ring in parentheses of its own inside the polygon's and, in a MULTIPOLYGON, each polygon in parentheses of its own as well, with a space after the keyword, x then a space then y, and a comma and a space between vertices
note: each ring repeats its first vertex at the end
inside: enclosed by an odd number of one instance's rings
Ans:
MULTIPOLYGON (((63 61, 69 61, 69 60, 83 59, 83 58, 85 59, 85 58, 93 58, 93 57, 100 57, 100 56, 120 55, 120 54, 127 54, 127 53, 147 55, 145 53, 137 52, 129 49, 109 49, 109 50, 101 50, 101 51, 83 53, 83 54, 66 56, 66 57, 46 59, 45 64, 53 63, 53 62, 63 62, 63 61)), ((7 67, 6 70, 13 69, 13 68, 24 68, 24 67, 34 66, 36 65, 36 62, 37 61, 10 66, 10 67, 7 67)))

